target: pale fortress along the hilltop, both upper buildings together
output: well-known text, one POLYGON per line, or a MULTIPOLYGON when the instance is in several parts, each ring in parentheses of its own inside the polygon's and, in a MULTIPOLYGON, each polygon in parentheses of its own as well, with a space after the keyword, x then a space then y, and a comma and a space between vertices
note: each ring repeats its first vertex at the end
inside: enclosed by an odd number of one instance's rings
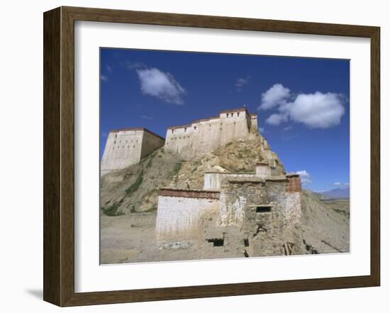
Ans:
MULTIPOLYGON (((255 137, 260 137, 264 150, 269 150, 257 130, 257 114, 248 113, 245 107, 224 110, 216 117, 195 120, 189 125, 168 127, 166 139, 143 127, 111 130, 101 159, 101 175, 138 164, 162 146, 183 159, 192 159, 233 140, 255 137)), ((277 159, 272 154, 269 150, 268 159, 277 159)))

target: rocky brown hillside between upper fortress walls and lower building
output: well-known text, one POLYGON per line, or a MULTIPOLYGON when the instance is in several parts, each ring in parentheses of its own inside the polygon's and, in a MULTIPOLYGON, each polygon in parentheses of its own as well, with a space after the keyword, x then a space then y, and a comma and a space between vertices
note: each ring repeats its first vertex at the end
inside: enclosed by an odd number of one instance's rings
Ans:
POLYGON ((261 140, 230 142, 194 160, 157 149, 140 164, 101 178, 101 211, 105 215, 150 212, 157 210, 159 188, 201 189, 207 171, 255 171, 256 162, 264 160, 261 140))

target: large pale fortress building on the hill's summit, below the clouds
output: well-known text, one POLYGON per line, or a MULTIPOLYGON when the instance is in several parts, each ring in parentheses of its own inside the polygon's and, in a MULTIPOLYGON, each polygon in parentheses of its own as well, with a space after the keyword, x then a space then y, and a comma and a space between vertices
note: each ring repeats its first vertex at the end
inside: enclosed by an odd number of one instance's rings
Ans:
POLYGON ((248 140, 256 134, 257 114, 248 113, 247 108, 224 110, 213 118, 168 127, 165 149, 191 159, 233 140, 248 140))

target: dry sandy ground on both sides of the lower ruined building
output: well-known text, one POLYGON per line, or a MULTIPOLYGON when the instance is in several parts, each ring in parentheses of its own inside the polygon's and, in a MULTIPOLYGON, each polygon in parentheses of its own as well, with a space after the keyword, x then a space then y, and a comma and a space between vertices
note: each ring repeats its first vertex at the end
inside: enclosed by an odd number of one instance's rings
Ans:
MULTIPOLYGON (((349 200, 321 201, 304 194, 302 239, 307 254, 348 252, 349 200)), ((101 215, 101 264, 218 258, 196 246, 158 244, 156 212, 101 215)), ((300 240, 302 240, 300 239, 300 240)))

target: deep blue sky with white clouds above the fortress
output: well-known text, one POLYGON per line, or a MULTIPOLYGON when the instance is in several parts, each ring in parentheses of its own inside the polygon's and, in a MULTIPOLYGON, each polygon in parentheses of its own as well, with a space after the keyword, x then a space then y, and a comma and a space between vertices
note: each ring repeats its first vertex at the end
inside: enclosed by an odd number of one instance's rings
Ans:
POLYGON ((101 48, 101 156, 110 130, 167 127, 240 108, 304 188, 350 181, 350 62, 101 48))

